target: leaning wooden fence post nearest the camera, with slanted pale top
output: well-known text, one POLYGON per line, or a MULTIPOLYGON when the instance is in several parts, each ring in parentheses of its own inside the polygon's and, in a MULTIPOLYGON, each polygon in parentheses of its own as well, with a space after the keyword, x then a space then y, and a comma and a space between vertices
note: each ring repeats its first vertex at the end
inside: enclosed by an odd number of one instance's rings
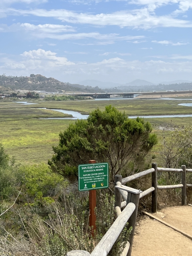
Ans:
POLYGON ((135 210, 132 213, 131 217, 128 220, 128 228, 132 227, 132 232, 129 237, 129 243, 130 247, 127 253, 127 256, 131 256, 131 251, 132 251, 132 245, 133 245, 133 238, 134 238, 134 232, 135 232, 135 225, 136 225, 136 219, 137 219, 137 210, 138 210, 138 204, 139 204, 139 196, 140 196, 140 191, 136 192, 136 194, 133 194, 131 192, 128 192, 127 194, 127 202, 126 205, 129 203, 134 203, 135 204, 135 210))

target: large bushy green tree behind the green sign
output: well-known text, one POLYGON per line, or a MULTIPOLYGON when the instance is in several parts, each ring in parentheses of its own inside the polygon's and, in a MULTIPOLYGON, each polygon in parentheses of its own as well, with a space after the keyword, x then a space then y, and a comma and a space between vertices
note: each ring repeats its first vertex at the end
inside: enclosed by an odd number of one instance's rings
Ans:
POLYGON ((48 164, 53 172, 75 178, 78 164, 90 159, 108 162, 112 181, 135 155, 145 157, 157 143, 151 131, 150 123, 143 118, 129 119, 112 106, 106 106, 103 112, 96 109, 87 120, 78 120, 60 132, 59 145, 53 147, 48 164))

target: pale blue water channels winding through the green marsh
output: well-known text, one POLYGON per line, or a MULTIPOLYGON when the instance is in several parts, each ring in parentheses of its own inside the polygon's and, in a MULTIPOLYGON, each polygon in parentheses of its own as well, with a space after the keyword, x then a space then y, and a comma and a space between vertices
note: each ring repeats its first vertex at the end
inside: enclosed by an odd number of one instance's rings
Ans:
MULTIPOLYGON (((131 100, 131 98, 109 98, 109 99, 96 99, 96 100, 118 100, 118 99, 122 99, 122 100, 131 100)), ((192 99, 172 99, 172 98, 160 98, 165 99, 165 100, 192 100, 192 99)), ((30 102, 26 102, 26 101, 18 101, 16 103, 22 103, 24 105, 30 105, 30 104, 38 104, 38 103, 30 103, 30 102)), ((181 103, 178 104, 180 106, 192 106, 192 103, 181 103)), ((39 109, 47 109, 47 110, 53 110, 56 112, 60 112, 63 114, 68 114, 68 115, 72 115, 72 117, 52 117, 52 118, 40 118, 40 119, 46 119, 46 120, 50 120, 50 119, 59 119, 59 120, 65 120, 65 119, 70 119, 70 120, 77 120, 77 119, 87 119, 89 115, 82 115, 79 112, 76 111, 71 111, 71 110, 62 110, 62 109, 52 109, 52 108, 39 108, 39 109)), ((129 118, 137 118, 138 116, 129 116, 129 118)), ((148 116, 139 116, 142 118, 175 118, 175 117, 192 117, 192 114, 173 114, 173 115, 148 115, 148 116)))

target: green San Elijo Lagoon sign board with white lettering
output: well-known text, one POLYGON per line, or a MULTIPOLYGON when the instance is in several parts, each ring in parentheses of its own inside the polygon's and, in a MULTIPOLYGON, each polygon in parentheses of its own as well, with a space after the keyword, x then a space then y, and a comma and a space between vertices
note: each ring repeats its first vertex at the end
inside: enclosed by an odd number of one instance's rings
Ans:
POLYGON ((80 164, 78 166, 79 191, 108 188, 108 163, 80 164))

